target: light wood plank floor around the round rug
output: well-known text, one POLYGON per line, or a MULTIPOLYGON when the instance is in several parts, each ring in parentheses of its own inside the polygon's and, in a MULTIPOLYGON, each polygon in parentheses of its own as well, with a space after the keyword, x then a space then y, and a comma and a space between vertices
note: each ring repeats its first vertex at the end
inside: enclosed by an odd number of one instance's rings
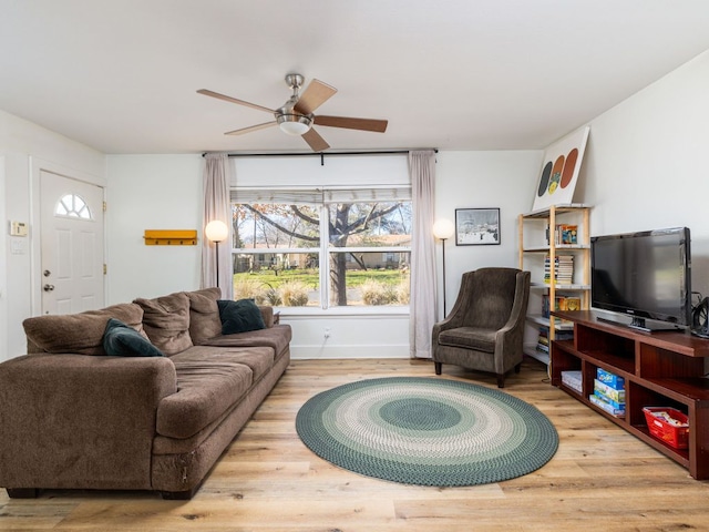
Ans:
MULTIPOLYGON (((451 366, 443 378, 493 387, 451 366)), ((514 480, 424 488, 330 466, 298 439, 294 420, 312 395, 353 380, 431 376, 430 362, 296 360, 192 501, 147 492, 47 491, 10 500, 0 490, 0 530, 228 530, 235 532, 709 531, 709 482, 688 472, 549 386, 525 360, 505 391, 555 424, 556 456, 514 480)))

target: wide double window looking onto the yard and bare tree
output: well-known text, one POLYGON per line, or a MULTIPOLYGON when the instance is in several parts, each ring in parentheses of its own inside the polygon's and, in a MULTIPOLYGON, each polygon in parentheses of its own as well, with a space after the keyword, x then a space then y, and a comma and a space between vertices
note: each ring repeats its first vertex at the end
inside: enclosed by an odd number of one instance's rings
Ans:
POLYGON ((284 307, 408 306, 410 187, 233 192, 234 294, 284 307))

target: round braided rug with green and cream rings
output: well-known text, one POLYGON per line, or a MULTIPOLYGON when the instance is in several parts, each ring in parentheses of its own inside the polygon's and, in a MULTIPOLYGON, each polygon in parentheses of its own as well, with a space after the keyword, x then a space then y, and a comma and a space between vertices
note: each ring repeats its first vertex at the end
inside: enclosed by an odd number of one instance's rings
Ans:
POLYGON ((558 434, 535 407, 467 382, 371 379, 309 399, 296 430, 317 456, 368 477, 418 485, 473 485, 531 473, 558 434))

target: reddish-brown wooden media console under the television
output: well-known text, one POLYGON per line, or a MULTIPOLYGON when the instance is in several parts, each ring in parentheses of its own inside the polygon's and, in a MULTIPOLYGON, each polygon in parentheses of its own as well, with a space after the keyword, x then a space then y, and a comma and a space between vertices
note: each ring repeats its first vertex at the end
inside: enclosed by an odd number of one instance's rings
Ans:
POLYGON ((599 320, 593 310, 555 311, 574 323, 574 339, 552 342, 552 385, 682 464, 709 479, 709 340, 688 332, 643 332, 599 320), (598 368, 625 378, 625 418, 590 402, 598 368), (562 382, 562 371, 580 370, 582 393, 562 382), (689 418, 689 447, 676 449, 650 434, 643 407, 671 407, 689 418))

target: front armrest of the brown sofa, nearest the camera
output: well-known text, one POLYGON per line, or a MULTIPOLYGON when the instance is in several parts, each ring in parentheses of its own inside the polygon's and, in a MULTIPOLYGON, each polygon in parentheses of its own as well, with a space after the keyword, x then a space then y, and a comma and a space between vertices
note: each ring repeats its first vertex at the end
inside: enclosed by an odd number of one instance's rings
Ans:
POLYGON ((0 485, 150 489, 163 357, 31 355, 0 364, 0 485))

